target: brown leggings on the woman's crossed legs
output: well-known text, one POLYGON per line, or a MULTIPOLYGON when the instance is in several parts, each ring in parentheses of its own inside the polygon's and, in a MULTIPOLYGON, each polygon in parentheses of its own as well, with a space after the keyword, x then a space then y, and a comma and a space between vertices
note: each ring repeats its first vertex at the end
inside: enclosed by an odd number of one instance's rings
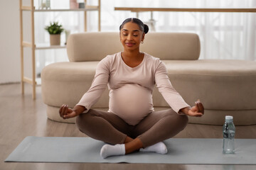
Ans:
POLYGON ((178 115, 172 109, 149 113, 137 125, 129 125, 114 113, 90 109, 76 118, 79 130, 95 140, 112 145, 123 144, 127 136, 139 138, 143 147, 149 147, 174 137, 188 123, 188 116, 178 115))

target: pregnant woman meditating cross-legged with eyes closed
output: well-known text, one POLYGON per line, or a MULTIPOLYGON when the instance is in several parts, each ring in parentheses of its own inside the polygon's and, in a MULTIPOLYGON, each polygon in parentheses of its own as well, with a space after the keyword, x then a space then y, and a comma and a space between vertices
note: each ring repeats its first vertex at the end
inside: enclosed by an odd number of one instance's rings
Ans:
POLYGON ((119 27, 124 50, 108 55, 97 64, 90 89, 73 109, 67 105, 60 107, 62 118, 76 116, 81 132, 107 143, 100 151, 103 158, 135 151, 166 154, 162 141, 181 132, 188 123, 188 115, 203 115, 200 101, 188 106, 171 85, 164 63, 139 51, 148 31, 149 27, 139 19, 127 18, 119 27), (170 109, 154 111, 155 84, 170 109), (91 109, 107 86, 109 111, 91 109))

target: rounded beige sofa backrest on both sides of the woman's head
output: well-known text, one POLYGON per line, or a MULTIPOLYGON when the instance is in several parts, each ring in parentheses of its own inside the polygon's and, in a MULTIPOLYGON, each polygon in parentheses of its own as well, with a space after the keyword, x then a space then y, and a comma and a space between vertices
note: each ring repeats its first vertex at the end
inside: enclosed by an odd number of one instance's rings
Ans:
MULTIPOLYGON (((100 61, 119 51, 119 33, 77 33, 67 42, 70 62, 100 61)), ((200 41, 194 33, 149 33, 141 51, 161 60, 198 60, 200 41)))

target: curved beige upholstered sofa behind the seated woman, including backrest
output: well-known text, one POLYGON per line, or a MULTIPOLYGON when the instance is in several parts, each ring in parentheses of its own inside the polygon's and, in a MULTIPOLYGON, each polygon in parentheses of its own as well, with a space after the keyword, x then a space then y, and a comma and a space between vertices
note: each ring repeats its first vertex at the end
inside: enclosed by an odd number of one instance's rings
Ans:
MULTIPOLYGON (((67 52, 70 62, 50 64, 43 69, 42 95, 51 120, 63 120, 58 110, 63 103, 75 106, 90 88, 97 63, 106 55, 122 50, 119 33, 78 33, 70 35, 67 52)), ((202 118, 190 123, 223 125, 225 115, 233 115, 236 125, 256 124, 256 62, 242 60, 198 60, 200 40, 193 33, 148 33, 141 51, 159 57, 168 69, 174 88, 193 106, 201 99, 202 118)), ((107 110, 108 89, 93 106, 107 110)), ((169 108, 155 88, 156 111, 169 108)))

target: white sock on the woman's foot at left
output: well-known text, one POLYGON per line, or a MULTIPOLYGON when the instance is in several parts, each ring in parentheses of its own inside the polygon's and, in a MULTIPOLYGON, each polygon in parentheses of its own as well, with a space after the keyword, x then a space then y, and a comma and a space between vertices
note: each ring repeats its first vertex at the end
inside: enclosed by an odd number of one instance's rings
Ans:
POLYGON ((124 154, 125 154, 124 144, 104 145, 100 150, 100 156, 102 158, 106 158, 114 155, 124 155, 124 154))

